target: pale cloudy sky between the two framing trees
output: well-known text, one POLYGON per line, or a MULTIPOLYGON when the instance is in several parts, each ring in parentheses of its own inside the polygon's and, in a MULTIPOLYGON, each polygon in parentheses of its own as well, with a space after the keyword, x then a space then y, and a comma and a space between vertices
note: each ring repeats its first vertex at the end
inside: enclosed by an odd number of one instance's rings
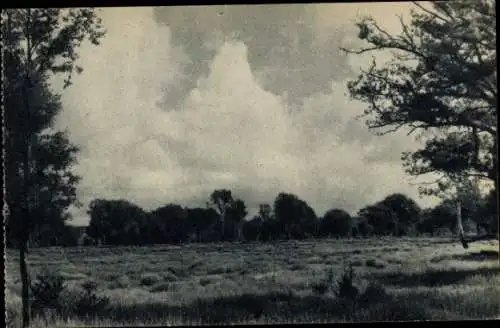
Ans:
MULTIPOLYGON (((82 177, 71 224, 87 224, 92 199, 145 210, 205 206, 230 189, 251 217, 280 192, 318 216, 401 192, 421 206, 401 152, 405 133, 377 136, 356 119, 367 104, 346 82, 371 63, 355 26, 371 15, 398 32, 407 3, 331 3, 105 8, 98 47, 84 44, 84 71, 62 92, 56 126, 80 147, 82 177)), ((377 62, 388 54, 376 56, 377 62)))

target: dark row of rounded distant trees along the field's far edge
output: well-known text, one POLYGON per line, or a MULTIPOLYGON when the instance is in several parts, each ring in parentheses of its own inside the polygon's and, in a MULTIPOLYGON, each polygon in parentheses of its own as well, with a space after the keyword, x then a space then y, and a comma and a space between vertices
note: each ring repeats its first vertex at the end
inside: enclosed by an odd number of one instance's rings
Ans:
MULTIPOLYGON (((466 229, 477 233, 498 232, 496 197, 492 191, 464 204, 466 229)), ((60 224, 34 234, 32 246, 154 245, 237 241, 302 240, 308 238, 367 238, 371 236, 419 236, 454 233, 456 204, 444 200, 430 208, 410 197, 394 193, 361 208, 352 216, 340 208, 322 217, 296 195, 279 193, 273 204, 260 204, 246 219, 247 209, 230 190, 215 190, 205 207, 166 204, 146 211, 127 200, 93 200, 90 223, 81 235, 60 224)))

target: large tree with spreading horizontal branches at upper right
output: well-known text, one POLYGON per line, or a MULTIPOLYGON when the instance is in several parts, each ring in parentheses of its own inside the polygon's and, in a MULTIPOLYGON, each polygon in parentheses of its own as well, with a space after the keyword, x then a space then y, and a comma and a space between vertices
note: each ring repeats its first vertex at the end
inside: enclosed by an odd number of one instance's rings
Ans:
POLYGON ((425 141, 402 157, 409 174, 438 175, 422 193, 440 194, 462 174, 492 181, 498 191, 495 2, 414 4, 398 35, 371 17, 358 22, 368 46, 344 50, 392 51, 393 58, 383 67, 374 60, 350 81, 351 97, 369 104, 363 116, 370 129, 405 127, 425 141))

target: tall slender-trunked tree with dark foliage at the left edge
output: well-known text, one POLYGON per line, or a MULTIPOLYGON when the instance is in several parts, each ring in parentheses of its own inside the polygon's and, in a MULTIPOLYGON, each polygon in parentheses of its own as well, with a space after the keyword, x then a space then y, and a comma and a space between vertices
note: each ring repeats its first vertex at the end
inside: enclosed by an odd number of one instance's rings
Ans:
POLYGON ((50 137, 42 133, 47 132, 61 109, 47 80, 50 74, 63 75, 65 87, 69 86, 72 73, 82 70, 75 64, 76 49, 86 39, 97 45, 103 35, 100 20, 92 9, 2 11, 8 225, 11 232, 15 231, 19 246, 23 327, 29 326, 30 313, 28 240, 32 229, 44 217, 37 211, 45 212, 40 206, 43 201, 50 208, 47 211, 64 212, 75 201, 73 188, 77 182, 69 173, 76 149, 62 132, 50 137), (51 163, 37 157, 37 150, 41 149, 52 155, 51 163))

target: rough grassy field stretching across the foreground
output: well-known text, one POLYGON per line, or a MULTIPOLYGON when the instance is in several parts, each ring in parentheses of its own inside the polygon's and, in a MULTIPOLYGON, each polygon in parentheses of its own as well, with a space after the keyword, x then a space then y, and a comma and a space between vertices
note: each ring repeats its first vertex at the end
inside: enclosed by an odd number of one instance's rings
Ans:
MULTIPOLYGON (((28 262, 32 277, 42 269, 59 272, 68 291, 92 280, 97 294, 110 300, 93 317, 35 318, 35 327, 500 317, 495 240, 469 249, 443 238, 45 248, 31 250, 28 262), (349 263, 360 295, 352 307, 320 288, 329 270, 336 279, 349 263), (366 291, 372 286, 377 293, 366 291)), ((18 327, 14 250, 7 251, 6 270, 8 322, 18 327)))

